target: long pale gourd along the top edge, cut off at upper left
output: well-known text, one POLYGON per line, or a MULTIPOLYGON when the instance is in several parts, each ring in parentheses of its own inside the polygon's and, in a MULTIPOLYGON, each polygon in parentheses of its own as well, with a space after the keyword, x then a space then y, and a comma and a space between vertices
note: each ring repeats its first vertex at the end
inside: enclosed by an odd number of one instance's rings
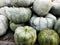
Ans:
POLYGON ((0 7, 3 6, 30 6, 34 0, 0 0, 0 7))

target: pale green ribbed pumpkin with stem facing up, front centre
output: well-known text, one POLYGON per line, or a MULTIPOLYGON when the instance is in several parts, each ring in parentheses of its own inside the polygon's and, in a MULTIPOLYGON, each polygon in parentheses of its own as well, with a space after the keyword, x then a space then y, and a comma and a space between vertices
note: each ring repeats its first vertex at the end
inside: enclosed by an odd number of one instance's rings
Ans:
POLYGON ((30 26, 18 27, 14 39, 17 45, 33 45, 36 41, 36 30, 30 26))

